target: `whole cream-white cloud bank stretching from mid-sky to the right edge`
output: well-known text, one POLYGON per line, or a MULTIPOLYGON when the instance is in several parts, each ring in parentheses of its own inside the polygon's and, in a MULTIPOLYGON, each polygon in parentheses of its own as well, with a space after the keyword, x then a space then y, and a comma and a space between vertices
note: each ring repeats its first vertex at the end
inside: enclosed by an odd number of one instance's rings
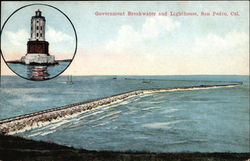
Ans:
POLYGON ((122 25, 104 48, 85 51, 77 68, 84 62, 87 74, 248 74, 246 33, 204 33, 185 43, 164 36, 179 26, 167 17, 147 18, 139 29, 122 25))

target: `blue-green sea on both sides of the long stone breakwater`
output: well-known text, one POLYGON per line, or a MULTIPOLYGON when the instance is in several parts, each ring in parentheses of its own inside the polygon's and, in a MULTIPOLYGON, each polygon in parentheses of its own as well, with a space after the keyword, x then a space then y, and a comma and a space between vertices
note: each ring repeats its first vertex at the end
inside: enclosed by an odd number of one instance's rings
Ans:
POLYGON ((249 152, 248 76, 75 76, 73 84, 5 76, 0 119, 136 89, 230 81, 243 85, 144 94, 16 135, 89 150, 249 152))

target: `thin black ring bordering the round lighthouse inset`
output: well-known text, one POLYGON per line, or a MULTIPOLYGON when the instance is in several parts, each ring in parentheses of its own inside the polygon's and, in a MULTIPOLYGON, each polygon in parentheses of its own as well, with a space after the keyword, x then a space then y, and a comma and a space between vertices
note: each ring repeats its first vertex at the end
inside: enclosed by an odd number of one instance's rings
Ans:
MULTIPOLYGON (((6 60, 5 60, 5 58, 4 58, 4 56, 3 56, 3 53, 2 53, 2 49, 0 49, 0 53, 1 53, 1 56, 2 56, 2 58, 3 58, 4 62, 5 62, 5 64, 8 66, 8 68, 9 68, 12 72, 14 72, 16 75, 18 75, 19 77, 21 77, 21 78, 23 78, 23 79, 31 80, 31 81, 46 81, 46 80, 53 79, 53 78, 59 76, 60 74, 62 74, 62 73, 70 66, 70 64, 71 64, 72 61, 74 60, 75 55, 76 55, 76 51, 77 51, 77 33, 76 33, 75 26, 73 25, 72 21, 69 19, 69 17, 68 17, 63 11, 61 11, 60 9, 58 9, 58 8, 52 6, 52 5, 43 4, 43 3, 33 3, 33 4, 28 4, 28 5, 22 6, 22 7, 18 8, 18 9, 16 9, 16 10, 6 19, 6 21, 3 23, 3 27, 1 28, 1 32, 0 32, 0 37, 2 37, 2 32, 3 32, 4 26, 6 25, 6 23, 8 22, 8 20, 11 18, 11 16, 13 16, 17 11, 19 11, 19 10, 21 10, 21 9, 23 9, 23 8, 26 8, 26 7, 29 7, 29 6, 34 6, 34 5, 42 5, 42 6, 47 6, 47 7, 54 8, 54 9, 56 9, 57 11, 59 11, 60 13, 62 13, 62 14, 67 18, 67 20, 70 22, 70 24, 71 24, 71 26, 72 26, 72 28, 73 28, 73 30, 74 30, 74 34, 75 34, 75 51, 74 51, 74 54, 73 54, 73 57, 72 57, 72 60, 70 61, 70 63, 65 67, 64 70, 62 70, 60 73, 58 73, 57 75, 55 75, 55 76, 53 76, 53 77, 51 77, 51 78, 44 79, 44 80, 35 80, 35 79, 28 79, 28 78, 26 78, 26 77, 23 77, 23 76, 21 76, 20 74, 18 74, 17 72, 15 72, 14 70, 12 70, 11 67, 9 67, 8 63, 6 63, 6 60)), ((0 57, 1 57, 1 56, 0 56, 0 57)))

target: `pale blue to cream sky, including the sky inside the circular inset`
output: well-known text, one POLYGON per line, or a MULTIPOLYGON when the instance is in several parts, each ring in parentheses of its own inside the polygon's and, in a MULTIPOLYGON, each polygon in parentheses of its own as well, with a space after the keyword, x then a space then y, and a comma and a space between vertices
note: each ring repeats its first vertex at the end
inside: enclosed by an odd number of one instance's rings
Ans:
MULTIPOLYGON (((16 9, 37 2, 1 3, 2 25, 16 9)), ((77 53, 63 75, 249 75, 248 1, 42 3, 63 11, 77 32, 77 53), (156 16, 95 15, 129 11, 155 12, 156 16), (158 15, 166 12, 167 16, 158 15), (170 16, 170 12, 196 12, 198 16, 170 16), (213 12, 228 16, 213 16, 213 12), (231 16, 231 12, 239 15, 231 16)), ((50 54, 72 58, 75 35, 71 24, 57 10, 41 5, 21 9, 6 23, 1 37, 4 58, 26 54, 30 18, 37 9, 46 18, 50 54)), ((14 75, 4 63, 1 68, 3 75, 14 75)))

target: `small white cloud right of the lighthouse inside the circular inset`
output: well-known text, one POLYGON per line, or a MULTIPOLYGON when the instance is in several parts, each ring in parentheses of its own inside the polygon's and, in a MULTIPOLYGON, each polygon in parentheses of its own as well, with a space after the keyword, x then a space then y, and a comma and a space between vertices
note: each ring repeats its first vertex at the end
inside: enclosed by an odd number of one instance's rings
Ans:
POLYGON ((46 39, 52 43, 58 43, 63 41, 73 41, 73 37, 61 32, 56 31, 54 28, 48 26, 48 31, 46 31, 46 39))

